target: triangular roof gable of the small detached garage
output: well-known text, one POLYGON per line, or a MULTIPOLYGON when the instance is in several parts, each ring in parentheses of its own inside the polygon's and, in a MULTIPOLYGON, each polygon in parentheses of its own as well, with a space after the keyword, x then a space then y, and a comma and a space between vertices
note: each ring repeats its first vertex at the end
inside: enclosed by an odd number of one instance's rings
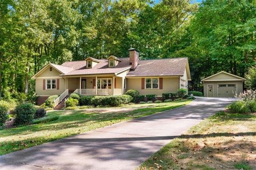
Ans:
POLYGON ((203 79, 202 81, 244 81, 245 79, 234 74, 221 71, 217 74, 213 74, 210 77, 203 79))

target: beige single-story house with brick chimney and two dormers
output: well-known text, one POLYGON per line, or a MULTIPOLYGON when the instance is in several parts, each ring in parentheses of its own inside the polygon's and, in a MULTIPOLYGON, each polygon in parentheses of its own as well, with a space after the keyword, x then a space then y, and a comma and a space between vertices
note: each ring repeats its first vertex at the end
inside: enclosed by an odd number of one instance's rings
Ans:
POLYGON ((162 97, 164 92, 187 88, 190 71, 187 58, 139 60, 138 50, 131 48, 127 58, 87 57, 61 65, 49 63, 33 78, 37 104, 42 104, 49 96, 60 95, 62 100, 74 91, 81 95, 106 96, 136 89, 143 95, 162 97))

